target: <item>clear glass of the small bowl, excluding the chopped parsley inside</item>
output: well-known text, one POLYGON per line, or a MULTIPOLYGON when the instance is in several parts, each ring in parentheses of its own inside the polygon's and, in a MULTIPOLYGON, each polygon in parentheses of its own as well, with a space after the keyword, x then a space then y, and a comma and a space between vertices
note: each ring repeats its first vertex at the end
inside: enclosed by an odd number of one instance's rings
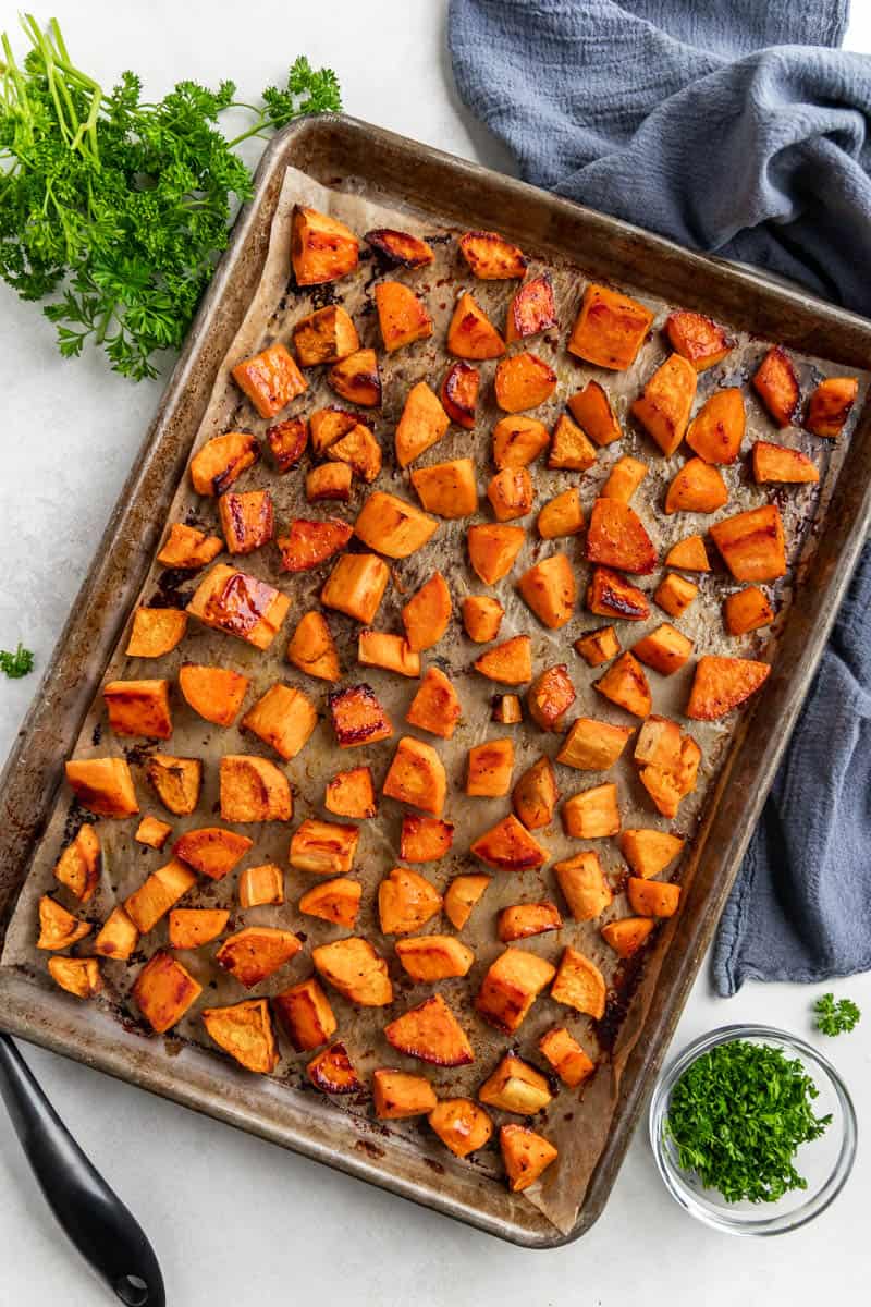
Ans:
POLYGON ((726 1234, 786 1234, 807 1225, 841 1192, 855 1159, 855 1111, 834 1067, 803 1039, 769 1026, 721 1026, 688 1044, 657 1081, 649 1124, 653 1155, 671 1197, 691 1216, 726 1234), (665 1129, 671 1091, 687 1067, 708 1050, 734 1039, 770 1044, 790 1060, 798 1059, 820 1091, 814 1099, 814 1115, 832 1114, 828 1129, 798 1150, 795 1166, 807 1188, 793 1189, 774 1202, 726 1202, 717 1189, 705 1189, 695 1172, 680 1168, 676 1146, 665 1129))

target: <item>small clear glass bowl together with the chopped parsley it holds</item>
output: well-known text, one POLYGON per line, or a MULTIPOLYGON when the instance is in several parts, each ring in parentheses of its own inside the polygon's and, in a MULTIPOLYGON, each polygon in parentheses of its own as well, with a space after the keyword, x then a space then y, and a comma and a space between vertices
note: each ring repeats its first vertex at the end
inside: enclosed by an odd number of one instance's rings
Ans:
POLYGON ((795 1230, 841 1192, 855 1158, 850 1095, 803 1039, 723 1026, 659 1077, 650 1142, 671 1196, 727 1234, 795 1230))

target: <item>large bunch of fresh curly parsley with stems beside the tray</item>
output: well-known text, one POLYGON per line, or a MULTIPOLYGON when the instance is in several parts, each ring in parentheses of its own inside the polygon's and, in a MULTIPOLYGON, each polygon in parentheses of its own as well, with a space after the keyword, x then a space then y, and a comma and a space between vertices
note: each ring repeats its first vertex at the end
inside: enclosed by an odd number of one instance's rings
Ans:
POLYGON ((0 38, 0 276, 43 312, 61 354, 102 346, 115 371, 157 375, 178 349, 226 247, 239 203, 252 195, 240 141, 300 114, 340 110, 336 74, 304 58, 262 106, 179 82, 158 103, 132 72, 111 93, 73 63, 56 20, 22 17, 30 50, 0 38), (255 115, 234 140, 221 115, 255 115))

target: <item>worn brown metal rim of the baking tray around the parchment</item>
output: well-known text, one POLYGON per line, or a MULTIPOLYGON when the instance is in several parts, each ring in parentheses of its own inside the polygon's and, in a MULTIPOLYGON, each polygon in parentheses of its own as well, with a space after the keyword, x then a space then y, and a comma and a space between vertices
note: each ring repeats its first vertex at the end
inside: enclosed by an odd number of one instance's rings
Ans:
MULTIPOLYGON (((312 141, 317 144, 319 133, 328 148, 330 141, 334 145, 337 140, 345 139, 351 149, 356 145, 358 149, 363 146, 375 153, 398 152, 405 154, 409 163, 452 171, 454 176, 474 182, 479 193, 484 193, 487 188, 487 195, 522 200, 537 212, 559 214, 580 223, 582 229, 595 230, 599 237, 612 235, 615 240, 628 240, 648 256, 659 255, 666 263, 676 261, 678 267, 692 269, 693 274, 706 272, 721 286, 725 278, 733 286, 757 295, 765 311, 776 314, 780 308, 789 314, 791 310, 815 329, 828 328, 838 340, 840 333, 849 337, 849 357, 842 357, 844 352, 838 357, 834 348, 825 350, 819 344, 815 345, 821 354, 834 357, 845 366, 857 366, 862 361, 867 366, 871 362, 871 323, 800 290, 774 284, 752 269, 735 268, 686 251, 629 223, 356 119, 323 115, 285 128, 264 152, 256 175, 255 199, 236 221, 231 243, 204 298, 135 468, 106 527, 94 563, 18 733, 18 742, 0 776, 0 937, 25 878, 27 852, 39 838, 60 783, 61 763, 68 753, 64 740, 71 742, 78 732, 102 668, 125 620, 129 606, 127 600, 133 600, 150 559, 154 537, 162 529, 163 521, 151 499, 159 498, 162 490, 178 481, 198 425, 191 417, 191 409, 196 409, 198 404, 201 413, 205 408, 223 348, 238 325, 238 320, 227 311, 226 299, 234 294, 239 297, 236 308, 240 316, 244 311, 244 294, 240 294, 239 286, 245 276, 256 278, 265 259, 270 207, 274 207, 278 195, 282 170, 287 163, 296 162, 295 149, 303 149, 307 144, 311 146, 312 141), (119 601, 119 582, 123 601, 119 601), (82 670, 85 661, 87 665, 82 670)), ((410 199, 414 200, 414 196, 410 199)), ((511 231, 512 223, 504 221, 503 226, 511 231)), ((637 268, 632 269, 631 276, 636 281, 645 280, 637 268)), ((709 291, 703 291, 700 298, 714 308, 709 291)), ((789 331, 777 335, 782 335, 787 344, 795 344, 797 348, 808 348, 806 340, 800 344, 790 341, 789 331)), ((767 693, 742 725, 696 840, 695 860, 697 864, 704 861, 714 889, 703 891, 699 876, 695 876, 691 899, 704 893, 699 910, 695 914, 684 911, 669 925, 659 984, 645 1021, 645 1034, 650 1038, 639 1038, 635 1043, 623 1074, 612 1129, 576 1225, 568 1234, 555 1231, 531 1205, 521 1206, 517 1200, 509 1200, 509 1206, 517 1217, 522 1212, 522 1221, 474 1205, 471 1191, 482 1187, 484 1179, 475 1176, 473 1171, 467 1184, 470 1193, 464 1199, 447 1193, 444 1184, 440 1185, 432 1172, 411 1176, 387 1172, 373 1161, 376 1145, 371 1153, 366 1148, 359 1150, 360 1142, 366 1141, 360 1141, 356 1127, 347 1127, 349 1142, 351 1134, 356 1136, 356 1142, 345 1153, 337 1149, 334 1138, 312 1138, 311 1133, 306 1134, 282 1120, 286 1114, 276 1108, 278 1099, 270 1086, 252 1086, 243 1073, 226 1068, 229 1084, 215 1087, 214 1060, 201 1050, 184 1050, 184 1074, 179 1076, 178 1057, 165 1050, 158 1051, 150 1043, 120 1042, 116 1022, 111 1025, 111 1034, 101 1042, 94 1034, 90 1016, 78 1008, 71 1010, 60 996, 38 989, 14 971, 0 972, 0 1027, 508 1242, 529 1248, 554 1248, 577 1239, 590 1229, 605 1208, 868 533, 871 414, 867 406, 854 433, 825 521, 827 529, 804 584, 799 588, 767 693), (854 467, 857 463, 858 469, 854 467), (814 610, 808 612, 811 595, 815 603, 814 610), (751 758, 742 744, 755 720, 763 742, 751 758), (778 729, 764 729, 765 720, 778 729), (720 843, 709 848, 709 839, 720 843), (675 942, 676 946, 671 948, 675 942)), ((696 867, 697 872, 700 869, 700 865, 696 867)), ((103 1019, 111 1021, 110 1017, 103 1019)), ((340 1114, 332 1114, 333 1134, 341 1121, 340 1114)), ((409 1155, 406 1161, 410 1171, 427 1170, 428 1163, 423 1155, 409 1155)))

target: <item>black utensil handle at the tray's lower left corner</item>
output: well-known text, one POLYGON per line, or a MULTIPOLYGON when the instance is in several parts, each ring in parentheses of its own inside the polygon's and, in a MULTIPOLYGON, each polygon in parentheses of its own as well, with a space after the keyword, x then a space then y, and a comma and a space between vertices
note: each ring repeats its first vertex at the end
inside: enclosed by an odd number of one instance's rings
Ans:
POLYGON ((154 1249, 87 1161, 12 1040, 0 1034, 0 1095, 48 1206, 127 1307, 166 1307, 154 1249))

